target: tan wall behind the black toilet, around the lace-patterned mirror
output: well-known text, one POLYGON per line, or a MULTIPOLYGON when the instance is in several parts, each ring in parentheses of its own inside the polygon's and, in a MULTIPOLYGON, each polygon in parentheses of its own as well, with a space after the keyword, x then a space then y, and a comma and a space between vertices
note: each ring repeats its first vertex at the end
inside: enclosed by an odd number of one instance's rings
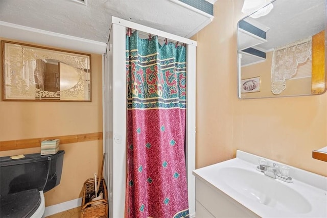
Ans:
MULTIPOLYGON (((0 101, 0 141, 102 132, 101 55, 91 54, 91 67, 92 102, 0 101)), ((2 89, 1 82, 1 96, 2 89)), ((61 182, 45 193, 45 206, 82 197, 83 183, 101 164, 102 140, 60 144, 60 150, 65 151, 61 182)), ((4 151, 0 156, 36 152, 40 147, 4 151)))

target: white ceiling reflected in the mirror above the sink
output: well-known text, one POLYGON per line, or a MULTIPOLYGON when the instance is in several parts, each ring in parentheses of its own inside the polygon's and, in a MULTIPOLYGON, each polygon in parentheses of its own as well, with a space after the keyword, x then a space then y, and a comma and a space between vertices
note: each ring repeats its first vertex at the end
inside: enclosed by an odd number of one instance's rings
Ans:
POLYGON ((268 27, 267 42, 255 46, 261 51, 269 51, 274 47, 286 45, 312 36, 325 28, 324 0, 292 0, 275 1, 271 12, 256 19, 245 20, 261 28, 268 27))

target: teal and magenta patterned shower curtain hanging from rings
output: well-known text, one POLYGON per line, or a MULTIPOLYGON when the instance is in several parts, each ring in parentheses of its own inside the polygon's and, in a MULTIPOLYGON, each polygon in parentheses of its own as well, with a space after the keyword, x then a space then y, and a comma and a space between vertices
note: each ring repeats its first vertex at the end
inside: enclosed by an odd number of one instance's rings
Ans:
POLYGON ((184 154, 186 48, 126 36, 125 216, 189 217, 184 154))

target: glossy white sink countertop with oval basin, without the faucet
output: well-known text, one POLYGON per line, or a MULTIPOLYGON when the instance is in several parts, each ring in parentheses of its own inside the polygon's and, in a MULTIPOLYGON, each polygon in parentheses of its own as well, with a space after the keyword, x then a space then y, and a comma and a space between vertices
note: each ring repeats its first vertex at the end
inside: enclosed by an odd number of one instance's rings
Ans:
POLYGON ((237 151, 236 158, 196 169, 193 175, 213 195, 228 196, 229 202, 241 204, 256 216, 327 217, 327 177, 289 166, 293 183, 287 183, 256 171, 259 158, 237 151))

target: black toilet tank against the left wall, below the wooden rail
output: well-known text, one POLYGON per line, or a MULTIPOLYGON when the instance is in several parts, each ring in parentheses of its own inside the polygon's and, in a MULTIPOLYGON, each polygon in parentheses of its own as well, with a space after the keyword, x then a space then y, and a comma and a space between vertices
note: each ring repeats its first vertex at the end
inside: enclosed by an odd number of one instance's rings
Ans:
POLYGON ((0 157, 0 196, 24 190, 46 192, 60 183, 64 151, 53 155, 27 154, 12 160, 0 157))

